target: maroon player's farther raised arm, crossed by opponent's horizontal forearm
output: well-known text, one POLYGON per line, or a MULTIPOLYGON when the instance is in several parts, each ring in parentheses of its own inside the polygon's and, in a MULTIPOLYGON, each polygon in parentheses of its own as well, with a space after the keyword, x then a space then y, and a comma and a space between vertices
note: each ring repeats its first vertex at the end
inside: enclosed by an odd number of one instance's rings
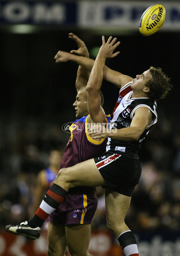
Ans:
MULTIPOLYGON (((69 33, 69 38, 72 39, 74 42, 76 42, 77 46, 78 46, 77 50, 72 50, 70 52, 89 58, 89 52, 88 52, 88 49, 87 49, 85 43, 78 36, 74 35, 73 33, 69 33)), ((85 69, 81 65, 78 66, 76 83, 75 83, 77 92, 82 87, 85 87, 87 85, 89 75, 90 75, 90 72, 87 69, 85 69)))

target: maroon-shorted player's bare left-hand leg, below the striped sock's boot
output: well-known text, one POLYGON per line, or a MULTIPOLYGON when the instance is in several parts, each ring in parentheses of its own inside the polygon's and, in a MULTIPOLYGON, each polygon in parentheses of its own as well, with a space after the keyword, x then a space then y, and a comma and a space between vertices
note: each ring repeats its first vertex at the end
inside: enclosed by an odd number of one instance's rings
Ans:
POLYGON ((48 226, 48 256, 64 256, 67 247, 64 225, 52 223, 48 226))

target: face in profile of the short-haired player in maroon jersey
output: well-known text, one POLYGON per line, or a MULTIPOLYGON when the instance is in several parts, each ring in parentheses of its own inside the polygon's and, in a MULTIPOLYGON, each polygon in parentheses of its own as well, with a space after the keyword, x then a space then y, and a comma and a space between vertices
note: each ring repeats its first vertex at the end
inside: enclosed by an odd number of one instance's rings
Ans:
POLYGON ((79 119, 88 115, 88 101, 86 97, 86 90, 80 90, 76 96, 76 101, 73 106, 76 110, 76 118, 79 119))

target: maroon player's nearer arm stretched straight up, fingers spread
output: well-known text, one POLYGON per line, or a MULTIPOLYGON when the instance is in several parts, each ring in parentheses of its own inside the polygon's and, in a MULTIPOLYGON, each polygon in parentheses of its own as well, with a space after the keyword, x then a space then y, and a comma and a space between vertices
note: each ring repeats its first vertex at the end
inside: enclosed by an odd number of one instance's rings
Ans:
POLYGON ((113 58, 119 54, 116 52, 113 54, 114 49, 120 44, 115 44, 116 38, 111 42, 112 37, 105 42, 104 36, 102 37, 102 46, 99 49, 98 56, 96 57, 95 63, 89 76, 88 84, 86 86, 86 93, 88 99, 88 112, 91 119, 95 123, 105 122, 104 109, 101 106, 100 89, 103 80, 103 68, 105 65, 106 58, 113 58))

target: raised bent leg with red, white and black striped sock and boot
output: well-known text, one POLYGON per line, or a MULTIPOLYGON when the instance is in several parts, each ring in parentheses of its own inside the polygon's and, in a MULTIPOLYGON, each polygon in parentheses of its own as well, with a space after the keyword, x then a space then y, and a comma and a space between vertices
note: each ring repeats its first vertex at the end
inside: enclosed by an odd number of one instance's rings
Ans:
POLYGON ((106 183, 96 167, 94 159, 76 164, 70 168, 61 169, 56 176, 54 184, 44 196, 35 216, 29 222, 26 221, 20 225, 7 225, 6 230, 14 234, 37 239, 40 236, 42 224, 49 214, 63 202, 69 188, 103 185, 105 186, 106 183))

